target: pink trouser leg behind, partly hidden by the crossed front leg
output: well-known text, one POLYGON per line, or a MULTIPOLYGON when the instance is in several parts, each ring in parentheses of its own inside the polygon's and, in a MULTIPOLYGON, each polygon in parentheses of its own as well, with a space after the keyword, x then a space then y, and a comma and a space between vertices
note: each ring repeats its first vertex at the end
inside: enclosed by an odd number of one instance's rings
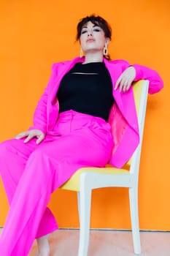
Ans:
MULTIPOLYGON (((12 139, 0 144, 0 174, 9 205, 25 170, 28 157, 37 147, 34 140, 23 143, 23 140, 12 139)), ((58 225, 53 214, 49 208, 46 208, 42 221, 39 223, 36 238, 52 233, 57 228, 58 225)))

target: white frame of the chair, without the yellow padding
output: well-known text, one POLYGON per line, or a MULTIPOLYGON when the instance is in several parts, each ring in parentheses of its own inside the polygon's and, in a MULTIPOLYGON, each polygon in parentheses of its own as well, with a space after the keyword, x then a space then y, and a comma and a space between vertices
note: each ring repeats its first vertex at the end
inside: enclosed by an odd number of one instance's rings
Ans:
MULTIPOLYGON (((137 83, 137 82, 136 82, 137 83)), ((147 92, 149 81, 142 80, 142 92, 139 100, 138 121, 140 142, 131 157, 129 172, 123 174, 108 174, 93 172, 93 168, 82 168, 80 173, 80 189, 77 192, 78 210, 80 218, 80 242, 78 256, 88 255, 88 244, 90 235, 90 206, 92 189, 102 187, 127 187, 131 213, 131 230, 134 243, 134 253, 141 254, 141 243, 139 233, 139 214, 138 214, 138 180, 139 162, 142 149, 142 138, 144 130, 144 118, 147 106, 147 92), (90 171, 89 171, 90 169, 90 171)), ((107 167, 104 167, 105 169, 107 167)), ((109 167, 117 169, 115 167, 109 167)), ((96 168, 95 168, 96 169, 96 168)), ((99 169, 99 168, 98 168, 99 169)), ((101 169, 101 168, 100 168, 101 169)))

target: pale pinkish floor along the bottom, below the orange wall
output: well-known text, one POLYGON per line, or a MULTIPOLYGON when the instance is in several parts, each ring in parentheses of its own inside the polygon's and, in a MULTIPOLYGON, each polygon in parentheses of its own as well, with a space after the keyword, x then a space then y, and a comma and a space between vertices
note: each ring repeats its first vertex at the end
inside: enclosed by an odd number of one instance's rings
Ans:
MULTIPOLYGON (((1 233, 1 230, 0 230, 1 233)), ((50 236, 50 256, 77 256, 79 230, 50 236)), ((142 256, 170 256, 170 232, 141 232, 142 256)), ((1 255, 1 253, 0 253, 1 255)), ((36 255, 36 242, 28 256, 36 255)), ((133 256, 130 231, 91 230, 88 256, 133 256)))

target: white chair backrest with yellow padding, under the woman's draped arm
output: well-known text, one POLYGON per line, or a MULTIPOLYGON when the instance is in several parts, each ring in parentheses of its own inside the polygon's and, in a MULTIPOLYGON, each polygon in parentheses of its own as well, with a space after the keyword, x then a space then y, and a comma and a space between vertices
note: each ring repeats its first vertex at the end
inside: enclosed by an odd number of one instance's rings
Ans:
POLYGON ((148 93, 148 80, 139 80, 133 84, 133 91, 134 91, 134 100, 136 105, 136 113, 138 116, 138 123, 139 123, 139 136, 140 141, 139 145, 134 151, 133 156, 126 165, 130 165, 130 173, 136 173, 136 178, 139 175, 139 161, 141 155, 141 148, 142 148, 142 138, 143 138, 143 131, 144 131, 144 119, 146 114, 146 107, 147 107, 147 93, 148 93))

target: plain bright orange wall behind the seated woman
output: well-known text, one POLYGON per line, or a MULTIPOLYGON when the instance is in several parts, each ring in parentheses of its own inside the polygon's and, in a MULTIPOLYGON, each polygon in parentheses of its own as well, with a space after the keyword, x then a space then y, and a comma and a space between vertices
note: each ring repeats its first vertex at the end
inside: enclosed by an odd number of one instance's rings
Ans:
MULTIPOLYGON (((139 175, 140 228, 170 230, 170 1, 4 0, 0 2, 0 140, 30 126, 53 62, 72 59, 80 18, 96 13, 112 26, 112 59, 158 70, 165 89, 148 99, 139 175)), ((93 192, 92 227, 129 228, 127 189, 93 192)), ((50 200, 60 227, 78 227, 75 192, 58 189, 50 200)), ((0 183, 0 226, 8 203, 0 183)))

